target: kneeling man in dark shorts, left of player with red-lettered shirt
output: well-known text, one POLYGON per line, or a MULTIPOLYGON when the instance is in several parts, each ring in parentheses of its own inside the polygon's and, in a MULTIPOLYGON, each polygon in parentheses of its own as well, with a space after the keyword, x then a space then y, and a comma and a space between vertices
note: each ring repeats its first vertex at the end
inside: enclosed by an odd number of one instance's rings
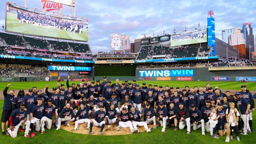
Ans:
POLYGON ((174 131, 178 130, 178 120, 176 118, 177 108, 174 107, 174 102, 170 102, 170 106, 167 107, 169 124, 174 124, 174 131))

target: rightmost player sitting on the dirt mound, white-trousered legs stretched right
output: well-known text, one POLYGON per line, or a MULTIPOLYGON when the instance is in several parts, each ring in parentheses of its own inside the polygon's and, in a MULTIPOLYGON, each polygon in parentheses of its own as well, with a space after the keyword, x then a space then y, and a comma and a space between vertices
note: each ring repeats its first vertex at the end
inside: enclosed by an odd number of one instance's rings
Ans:
POLYGON ((141 121, 142 114, 140 113, 140 111, 135 110, 134 106, 131 106, 131 112, 129 114, 130 114, 130 118, 132 119, 132 125, 135 129, 135 132, 137 132, 137 133, 140 132, 138 130, 137 126, 144 126, 147 133, 151 132, 152 128, 148 129, 147 123, 141 121))

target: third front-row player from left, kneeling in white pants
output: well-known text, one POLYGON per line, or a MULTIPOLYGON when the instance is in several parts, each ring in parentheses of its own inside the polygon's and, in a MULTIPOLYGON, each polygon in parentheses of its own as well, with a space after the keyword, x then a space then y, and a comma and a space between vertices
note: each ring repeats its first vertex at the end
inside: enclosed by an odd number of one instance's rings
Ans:
POLYGON ((55 108, 52 106, 52 99, 47 100, 47 104, 44 105, 44 116, 41 118, 41 134, 44 134, 44 125, 50 130, 52 126, 52 116, 55 115, 55 108))

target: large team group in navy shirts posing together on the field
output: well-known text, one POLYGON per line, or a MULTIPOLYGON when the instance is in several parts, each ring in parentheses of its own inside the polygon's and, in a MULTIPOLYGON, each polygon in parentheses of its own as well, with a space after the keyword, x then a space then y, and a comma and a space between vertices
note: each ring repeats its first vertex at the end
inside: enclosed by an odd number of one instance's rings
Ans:
POLYGON ((173 126, 174 131, 186 128, 186 134, 190 134, 190 128, 202 130, 202 135, 209 132, 213 138, 226 134, 226 142, 233 139, 233 133, 240 141, 240 135, 253 131, 254 99, 245 85, 231 95, 230 91, 222 92, 218 86, 213 89, 210 84, 174 90, 156 84, 140 86, 136 80, 125 80, 120 85, 116 79, 112 84, 104 77, 102 82, 96 80, 96 84, 82 80, 70 86, 69 78, 66 90, 58 78, 52 92, 48 90, 49 85, 44 92, 35 86, 26 92, 19 90, 17 96, 8 84, 4 89, 2 134, 15 138, 18 131, 24 131, 24 136, 29 138, 30 129, 34 137, 34 130, 44 134, 45 128, 59 130, 61 125, 70 126, 72 121, 75 121, 72 131, 78 130, 79 124, 87 123, 89 134, 93 134, 93 126, 101 128, 98 134, 104 134, 105 125, 112 129, 111 124, 117 125, 117 131, 130 128, 131 133, 139 133, 137 127, 144 127, 150 133, 160 124, 162 132, 166 126, 173 126), (148 124, 154 126, 149 128, 148 124))

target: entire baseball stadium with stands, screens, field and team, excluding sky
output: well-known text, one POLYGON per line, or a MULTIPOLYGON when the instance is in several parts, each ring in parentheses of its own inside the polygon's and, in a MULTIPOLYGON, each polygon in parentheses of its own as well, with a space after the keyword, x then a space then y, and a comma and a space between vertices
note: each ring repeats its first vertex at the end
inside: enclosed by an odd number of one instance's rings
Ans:
POLYGON ((78 0, 39 2, 0 10, 1 144, 255 141, 254 48, 215 37, 213 10, 134 43, 111 32, 95 53, 78 0))

